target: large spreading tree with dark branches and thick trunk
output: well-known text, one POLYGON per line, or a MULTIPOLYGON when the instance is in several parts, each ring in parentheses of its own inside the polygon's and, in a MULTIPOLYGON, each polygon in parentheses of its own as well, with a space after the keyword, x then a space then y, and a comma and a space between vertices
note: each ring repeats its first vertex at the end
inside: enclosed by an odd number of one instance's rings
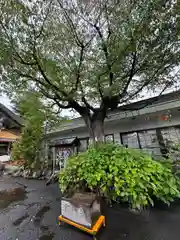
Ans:
POLYGON ((177 79, 175 1, 1 0, 0 9, 1 86, 76 110, 94 140, 109 110, 177 79))

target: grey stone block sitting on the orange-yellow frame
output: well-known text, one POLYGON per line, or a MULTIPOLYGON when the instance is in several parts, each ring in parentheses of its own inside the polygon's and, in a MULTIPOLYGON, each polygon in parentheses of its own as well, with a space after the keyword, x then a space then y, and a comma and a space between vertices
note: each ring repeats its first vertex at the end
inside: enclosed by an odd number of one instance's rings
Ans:
POLYGON ((61 199, 61 215, 91 229, 101 216, 101 204, 93 193, 76 193, 72 198, 61 199))

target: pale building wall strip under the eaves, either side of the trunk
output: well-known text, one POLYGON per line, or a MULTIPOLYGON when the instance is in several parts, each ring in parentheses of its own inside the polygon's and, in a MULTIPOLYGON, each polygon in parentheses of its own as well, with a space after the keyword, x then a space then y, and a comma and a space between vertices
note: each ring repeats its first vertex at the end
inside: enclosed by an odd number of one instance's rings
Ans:
MULTIPOLYGON (((115 141, 120 142, 120 133, 180 125, 180 112, 178 111, 178 109, 174 109, 171 111, 172 117, 170 118, 170 120, 167 121, 160 120, 160 116, 162 116, 164 113, 165 112, 161 111, 149 115, 139 115, 135 118, 127 118, 106 122, 104 129, 105 134, 114 134, 115 141)), ((71 137, 88 137, 88 131, 85 127, 73 130, 69 129, 66 131, 55 133, 50 138, 54 140, 58 138, 71 137)))

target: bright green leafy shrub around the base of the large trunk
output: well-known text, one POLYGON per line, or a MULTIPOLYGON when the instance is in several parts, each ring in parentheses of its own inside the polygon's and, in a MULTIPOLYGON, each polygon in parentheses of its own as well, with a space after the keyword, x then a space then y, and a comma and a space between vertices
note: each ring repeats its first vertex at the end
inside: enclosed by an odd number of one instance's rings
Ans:
POLYGON ((153 205, 154 197, 167 204, 180 197, 178 180, 168 162, 115 144, 101 144, 71 157, 59 176, 64 193, 89 189, 138 209, 153 205))

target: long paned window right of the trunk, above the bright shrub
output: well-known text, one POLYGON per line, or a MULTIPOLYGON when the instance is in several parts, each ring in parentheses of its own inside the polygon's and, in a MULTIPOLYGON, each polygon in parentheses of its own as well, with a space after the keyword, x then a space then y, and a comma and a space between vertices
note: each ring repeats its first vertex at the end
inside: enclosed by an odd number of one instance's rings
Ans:
POLYGON ((120 134, 121 143, 130 148, 140 148, 154 158, 170 157, 180 160, 180 127, 158 128, 120 134))

